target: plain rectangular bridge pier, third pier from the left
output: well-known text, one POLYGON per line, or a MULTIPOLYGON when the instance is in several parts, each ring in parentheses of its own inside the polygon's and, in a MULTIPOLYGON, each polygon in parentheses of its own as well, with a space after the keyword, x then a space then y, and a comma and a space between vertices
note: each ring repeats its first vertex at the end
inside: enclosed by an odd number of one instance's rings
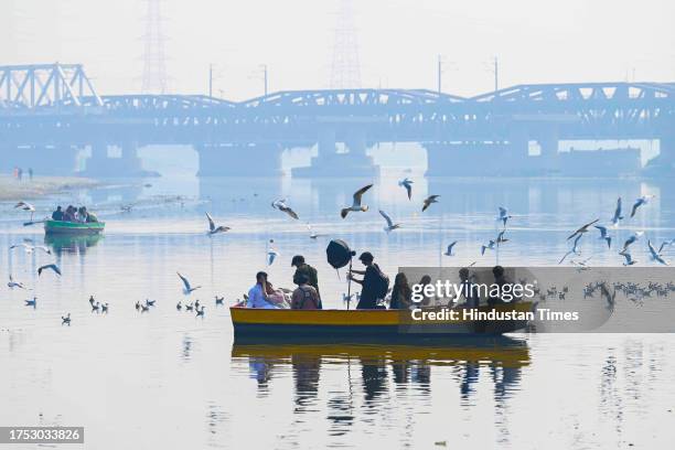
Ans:
POLYGON ((280 176, 281 153, 278 143, 203 144, 195 147, 200 156, 199 176, 280 176))

